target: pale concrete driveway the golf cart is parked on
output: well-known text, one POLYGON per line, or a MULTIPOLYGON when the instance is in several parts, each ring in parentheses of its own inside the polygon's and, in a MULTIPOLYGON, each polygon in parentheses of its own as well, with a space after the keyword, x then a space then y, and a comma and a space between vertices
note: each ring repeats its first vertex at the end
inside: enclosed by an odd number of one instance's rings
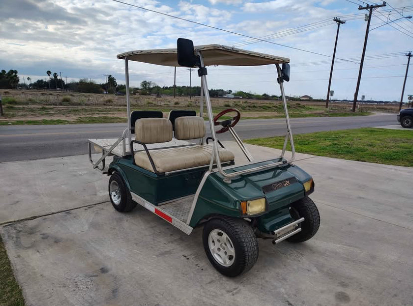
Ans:
POLYGON ((256 265, 234 279, 209 264, 202 228, 187 236, 139 205, 116 212, 86 156, 0 164, 0 232, 26 304, 412 305, 413 168, 298 159, 316 182, 319 232, 260 240, 256 265))

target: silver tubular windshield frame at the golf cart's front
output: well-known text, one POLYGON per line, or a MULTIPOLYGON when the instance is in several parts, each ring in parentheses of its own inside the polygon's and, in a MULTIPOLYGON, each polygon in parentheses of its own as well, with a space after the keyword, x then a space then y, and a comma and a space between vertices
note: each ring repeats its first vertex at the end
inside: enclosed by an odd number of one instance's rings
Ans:
MULTIPOLYGON (((200 56, 201 67, 205 67, 202 52, 197 51, 197 54, 200 56)), ((206 100, 206 103, 207 103, 209 127, 210 127, 210 130, 211 130, 211 136, 213 138, 213 153, 211 154, 211 161, 210 161, 210 164, 209 164, 209 171, 212 171, 213 159, 214 159, 214 156, 216 156, 216 167, 218 169, 219 174, 224 177, 224 181, 228 181, 231 178, 234 178, 234 177, 237 177, 237 176, 240 176, 240 175, 243 175, 243 174, 253 173, 253 172, 256 172, 256 171, 261 171, 261 170, 274 168, 274 167, 279 166, 279 165, 289 164, 289 163, 293 162, 294 159, 295 159, 294 140, 293 140, 293 135, 292 135, 292 132, 291 132, 290 116, 288 114, 287 100, 285 99, 285 92, 284 92, 284 85, 283 85, 283 80, 282 80, 281 68, 280 68, 279 64, 275 64, 275 66, 277 67, 278 80, 279 80, 279 84, 280 84, 282 102, 283 102, 284 111, 285 111, 285 120, 286 120, 286 123, 287 123, 287 134, 286 134, 286 137, 285 137, 286 140, 284 141, 285 142, 284 146, 286 146, 287 139, 289 139, 290 143, 291 143, 291 158, 287 161, 280 161, 280 162, 277 162, 277 163, 258 166, 258 167, 255 167, 255 168, 245 169, 245 170, 241 170, 241 171, 237 171, 237 172, 233 172, 233 173, 226 173, 222 169, 221 161, 220 161, 220 158, 219 158, 218 142, 217 142, 215 129, 214 129, 214 124, 213 124, 212 106, 211 106, 211 100, 210 100, 210 97, 209 97, 207 77, 205 75, 203 75, 201 77, 201 85, 202 85, 202 89, 203 89, 204 95, 205 95, 205 100, 206 100)), ((238 139, 239 139, 239 137, 238 137, 238 139)), ((242 141, 240 141, 240 142, 242 143, 242 141)), ((240 146, 240 148, 242 150, 242 146, 238 143, 238 141, 237 141, 237 144, 240 146)), ((243 153, 245 154, 244 151, 243 151, 243 153)), ((285 150, 283 150, 281 157, 284 156, 284 153, 285 153, 285 150)), ((247 156, 247 158, 248 158, 248 156, 247 156)))

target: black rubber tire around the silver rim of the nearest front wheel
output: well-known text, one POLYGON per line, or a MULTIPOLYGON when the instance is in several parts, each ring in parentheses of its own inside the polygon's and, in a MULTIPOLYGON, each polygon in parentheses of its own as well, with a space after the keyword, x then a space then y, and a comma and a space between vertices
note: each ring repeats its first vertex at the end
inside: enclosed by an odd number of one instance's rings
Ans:
POLYGON ((204 226, 202 240, 210 263, 219 273, 225 276, 235 277, 247 272, 258 259, 257 238, 252 227, 243 219, 222 217, 209 220, 204 226), (212 234, 216 231, 224 232, 232 243, 231 248, 234 256, 230 266, 225 267, 219 263, 209 248, 209 233, 212 234))

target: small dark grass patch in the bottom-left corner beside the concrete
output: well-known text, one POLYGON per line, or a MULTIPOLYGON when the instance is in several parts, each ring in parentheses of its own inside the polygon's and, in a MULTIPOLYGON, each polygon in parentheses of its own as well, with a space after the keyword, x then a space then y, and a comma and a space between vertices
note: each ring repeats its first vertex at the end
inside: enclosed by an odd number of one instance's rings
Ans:
POLYGON ((0 236, 0 306, 24 306, 21 288, 16 282, 0 236))

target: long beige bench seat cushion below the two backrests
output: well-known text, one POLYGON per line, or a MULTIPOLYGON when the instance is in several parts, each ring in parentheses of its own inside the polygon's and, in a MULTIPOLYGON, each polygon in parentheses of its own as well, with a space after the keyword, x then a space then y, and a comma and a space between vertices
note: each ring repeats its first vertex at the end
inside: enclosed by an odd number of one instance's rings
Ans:
MULTIPOLYGON (((149 150, 156 170, 160 173, 193 167, 207 166, 211 160, 211 145, 195 145, 162 150, 149 150)), ((222 163, 234 160, 231 151, 219 148, 219 159, 222 163)), ((216 161, 216 159, 215 159, 216 161)), ((145 151, 135 153, 135 163, 139 167, 154 172, 148 154, 145 151)))

